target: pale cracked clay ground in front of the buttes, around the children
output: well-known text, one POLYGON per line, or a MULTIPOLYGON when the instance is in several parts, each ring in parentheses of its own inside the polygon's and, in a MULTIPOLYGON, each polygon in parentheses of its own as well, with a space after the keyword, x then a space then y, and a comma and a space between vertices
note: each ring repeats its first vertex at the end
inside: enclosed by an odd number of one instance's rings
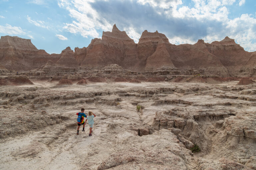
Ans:
POLYGON ((256 85, 32 82, 1 87, 2 170, 256 169, 256 85), (90 137, 76 135, 81 108, 90 137))

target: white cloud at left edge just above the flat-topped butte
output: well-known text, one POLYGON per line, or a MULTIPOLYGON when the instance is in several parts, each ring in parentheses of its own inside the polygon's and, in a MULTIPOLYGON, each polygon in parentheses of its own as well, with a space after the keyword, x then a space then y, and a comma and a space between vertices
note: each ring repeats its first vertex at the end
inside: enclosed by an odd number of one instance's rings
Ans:
POLYGON ((25 35, 31 39, 34 39, 33 36, 29 35, 26 30, 22 30, 20 27, 13 27, 9 24, 5 24, 5 26, 0 25, 0 33, 7 35, 25 35))

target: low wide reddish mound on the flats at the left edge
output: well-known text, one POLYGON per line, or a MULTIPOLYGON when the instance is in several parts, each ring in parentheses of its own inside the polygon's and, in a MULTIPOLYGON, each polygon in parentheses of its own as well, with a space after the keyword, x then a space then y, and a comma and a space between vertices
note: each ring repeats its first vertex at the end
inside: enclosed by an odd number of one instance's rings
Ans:
POLYGON ((27 76, 5 76, 0 77, 0 86, 20 86, 33 84, 27 76))

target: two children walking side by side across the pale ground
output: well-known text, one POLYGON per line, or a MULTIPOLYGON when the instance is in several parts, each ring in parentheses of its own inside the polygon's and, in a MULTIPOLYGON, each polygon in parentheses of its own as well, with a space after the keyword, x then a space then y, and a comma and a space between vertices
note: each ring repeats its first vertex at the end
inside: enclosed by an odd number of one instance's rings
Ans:
POLYGON ((85 127, 85 124, 88 120, 88 124, 89 124, 89 127, 90 127, 90 132, 89 132, 89 136, 92 136, 92 127, 93 127, 93 124, 94 124, 94 120, 93 118, 96 117, 96 115, 94 115, 94 113, 92 111, 89 111, 88 113, 88 117, 84 114, 84 108, 81 109, 81 112, 77 113, 76 115, 78 115, 78 118, 77 118, 77 133, 76 134, 79 134, 79 128, 81 125, 83 125, 83 130, 82 131, 85 131, 84 130, 84 127, 85 127), (84 122, 84 118, 86 118, 85 122, 84 122))

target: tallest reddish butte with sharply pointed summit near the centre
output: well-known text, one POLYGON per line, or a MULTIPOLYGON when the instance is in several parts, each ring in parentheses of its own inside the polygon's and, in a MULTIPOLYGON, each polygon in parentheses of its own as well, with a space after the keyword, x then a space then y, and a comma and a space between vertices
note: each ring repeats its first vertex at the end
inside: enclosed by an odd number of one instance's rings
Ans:
POLYGON ((87 47, 87 54, 82 67, 103 68, 118 64, 123 68, 139 68, 136 44, 125 31, 113 26, 112 32, 103 32, 102 39, 93 39, 87 47))

